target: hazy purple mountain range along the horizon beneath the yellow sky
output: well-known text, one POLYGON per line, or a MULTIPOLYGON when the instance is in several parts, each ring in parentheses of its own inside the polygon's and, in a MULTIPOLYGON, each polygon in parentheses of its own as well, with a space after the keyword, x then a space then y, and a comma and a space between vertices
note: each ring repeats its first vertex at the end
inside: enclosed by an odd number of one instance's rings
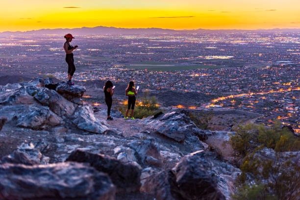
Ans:
POLYGON ((107 27, 107 26, 96 26, 96 27, 82 27, 82 28, 55 28, 55 29, 39 29, 39 30, 30 30, 30 31, 5 31, 0 32, 0 36, 9 36, 9 35, 19 35, 19 34, 34 34, 34 35, 43 35, 43 34, 66 34, 72 33, 74 35, 156 35, 156 34, 182 34, 182 33, 238 33, 238 32, 296 32, 300 33, 300 28, 289 29, 289 28, 274 28, 274 29, 256 29, 256 30, 243 30, 243 29, 219 29, 219 30, 210 30, 210 29, 194 29, 194 30, 173 30, 173 29, 163 29, 163 28, 116 28, 116 27, 107 27))

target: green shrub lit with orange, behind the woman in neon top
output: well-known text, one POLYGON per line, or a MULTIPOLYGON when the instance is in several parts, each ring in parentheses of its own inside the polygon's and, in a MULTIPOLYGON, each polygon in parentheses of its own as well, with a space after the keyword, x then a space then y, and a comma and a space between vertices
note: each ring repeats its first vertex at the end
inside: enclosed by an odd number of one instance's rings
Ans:
MULTIPOLYGON (((118 109, 123 115, 126 114, 127 110, 127 101, 125 104, 119 106, 118 109)), ((149 117, 155 115, 160 112, 160 106, 157 104, 157 99, 153 97, 149 97, 147 94, 143 96, 139 101, 136 102, 134 107, 133 117, 137 119, 143 119, 145 117, 149 117)), ((131 110, 129 110, 128 115, 131 115, 131 110)))

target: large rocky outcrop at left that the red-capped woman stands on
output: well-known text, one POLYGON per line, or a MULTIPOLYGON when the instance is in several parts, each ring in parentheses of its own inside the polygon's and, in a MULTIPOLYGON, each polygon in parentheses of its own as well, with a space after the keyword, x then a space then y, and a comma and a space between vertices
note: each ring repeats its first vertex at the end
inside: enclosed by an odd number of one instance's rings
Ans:
POLYGON ((75 125, 94 133, 114 132, 104 120, 95 118, 89 105, 79 102, 84 87, 65 82, 54 84, 51 78, 46 78, 1 86, 0 89, 0 113, 19 127, 50 130, 57 125, 66 128, 75 125))

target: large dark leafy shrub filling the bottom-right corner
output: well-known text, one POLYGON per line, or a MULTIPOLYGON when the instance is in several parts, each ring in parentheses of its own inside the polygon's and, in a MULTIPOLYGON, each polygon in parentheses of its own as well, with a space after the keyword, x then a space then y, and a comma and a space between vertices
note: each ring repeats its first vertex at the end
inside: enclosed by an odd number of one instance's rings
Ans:
POLYGON ((300 197, 300 166, 292 162, 289 156, 276 153, 275 159, 265 159, 252 152, 244 158, 241 171, 239 184, 243 186, 239 187, 234 197, 248 200, 251 199, 249 191, 253 194, 257 190, 250 190, 252 186, 245 183, 247 174, 252 175, 257 182, 264 180, 266 200, 297 200, 300 197), (268 194, 272 195, 268 197, 268 194))

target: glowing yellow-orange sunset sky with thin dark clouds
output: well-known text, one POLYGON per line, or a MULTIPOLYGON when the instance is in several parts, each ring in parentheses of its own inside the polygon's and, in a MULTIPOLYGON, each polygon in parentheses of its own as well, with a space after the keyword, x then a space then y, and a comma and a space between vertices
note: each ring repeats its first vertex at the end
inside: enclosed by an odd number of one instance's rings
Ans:
POLYGON ((0 32, 99 25, 300 28, 300 0, 1 0, 0 32))

